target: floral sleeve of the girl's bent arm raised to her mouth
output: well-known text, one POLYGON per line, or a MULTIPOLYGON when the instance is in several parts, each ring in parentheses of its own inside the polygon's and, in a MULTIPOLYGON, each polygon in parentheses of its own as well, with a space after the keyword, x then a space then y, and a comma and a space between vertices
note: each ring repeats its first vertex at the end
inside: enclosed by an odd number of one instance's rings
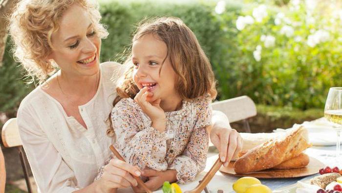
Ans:
POLYGON ((138 107, 131 98, 124 98, 113 108, 114 146, 131 165, 166 170, 166 140, 169 137, 150 126, 150 120, 142 116, 138 107))

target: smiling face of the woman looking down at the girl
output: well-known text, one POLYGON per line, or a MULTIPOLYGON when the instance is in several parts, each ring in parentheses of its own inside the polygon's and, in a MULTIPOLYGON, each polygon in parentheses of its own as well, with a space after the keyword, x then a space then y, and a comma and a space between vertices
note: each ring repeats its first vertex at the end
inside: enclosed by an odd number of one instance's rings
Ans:
POLYGON ((51 42, 54 49, 48 59, 53 59, 62 71, 76 76, 99 71, 101 39, 82 6, 74 3, 65 11, 51 42))

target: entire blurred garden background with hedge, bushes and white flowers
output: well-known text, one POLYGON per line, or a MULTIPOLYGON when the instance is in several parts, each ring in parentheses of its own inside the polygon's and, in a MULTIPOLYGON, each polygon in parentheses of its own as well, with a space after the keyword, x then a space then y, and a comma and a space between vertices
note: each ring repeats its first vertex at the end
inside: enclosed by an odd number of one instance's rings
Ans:
MULTIPOLYGON (((142 19, 182 19, 211 61, 217 100, 247 95, 257 104, 252 132, 322 117, 329 88, 342 86, 341 0, 101 0, 100 9, 109 32, 102 62, 124 61, 142 19)), ((8 38, 0 67, 0 128, 16 117, 22 98, 35 87, 25 84, 10 42, 8 38)), ((241 125, 233 127, 243 131, 241 125)), ((11 159, 4 151, 6 161, 11 159)), ((14 162, 19 167, 6 164, 13 168, 9 181, 22 177, 19 159, 14 162)))

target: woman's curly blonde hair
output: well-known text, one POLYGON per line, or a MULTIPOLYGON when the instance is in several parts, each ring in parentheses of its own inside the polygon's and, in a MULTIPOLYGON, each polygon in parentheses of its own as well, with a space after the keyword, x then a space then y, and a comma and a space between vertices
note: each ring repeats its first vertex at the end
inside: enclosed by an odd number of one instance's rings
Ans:
POLYGON ((97 35, 106 38, 108 32, 100 24, 98 5, 88 0, 21 0, 14 7, 8 18, 9 33, 14 43, 14 57, 26 70, 28 83, 37 78, 42 84, 56 72, 54 61, 46 60, 53 49, 51 35, 58 30, 62 15, 73 3, 87 10, 97 35))

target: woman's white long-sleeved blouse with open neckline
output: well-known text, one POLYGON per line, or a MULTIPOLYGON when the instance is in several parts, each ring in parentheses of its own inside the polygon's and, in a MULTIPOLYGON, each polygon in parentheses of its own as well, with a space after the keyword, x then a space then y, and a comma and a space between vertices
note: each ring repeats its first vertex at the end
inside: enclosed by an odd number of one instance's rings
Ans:
POLYGON ((79 106, 87 129, 68 117, 62 105, 41 87, 22 100, 18 126, 39 193, 70 193, 93 182, 112 144, 106 135, 106 120, 116 96, 111 77, 113 73, 120 76, 123 70, 118 63, 101 64, 95 96, 79 106))

